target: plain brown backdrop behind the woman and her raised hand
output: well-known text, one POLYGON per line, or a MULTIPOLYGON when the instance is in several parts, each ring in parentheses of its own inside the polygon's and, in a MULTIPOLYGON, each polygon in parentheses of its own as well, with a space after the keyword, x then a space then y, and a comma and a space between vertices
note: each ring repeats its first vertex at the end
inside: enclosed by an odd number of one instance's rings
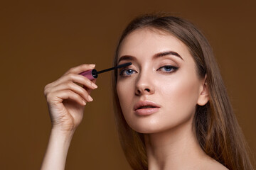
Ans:
MULTIPOLYGON (((156 11, 188 18, 203 30, 255 153, 255 8, 252 1, 1 2, 0 169, 39 169, 50 132, 44 86, 79 64, 110 67, 122 29, 134 16, 156 11)), ((66 169, 130 169, 114 127, 110 73, 97 85, 66 169)))

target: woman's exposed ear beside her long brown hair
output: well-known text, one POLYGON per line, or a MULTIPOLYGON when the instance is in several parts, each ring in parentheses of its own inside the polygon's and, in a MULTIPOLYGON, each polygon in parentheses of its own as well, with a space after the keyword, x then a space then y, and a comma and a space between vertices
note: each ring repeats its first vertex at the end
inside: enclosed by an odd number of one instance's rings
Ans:
POLYGON ((197 104, 200 106, 204 106, 209 101, 209 91, 208 91, 208 84, 206 83, 206 78, 207 78, 207 75, 203 79, 202 84, 200 86, 200 91, 199 91, 200 94, 197 102, 197 104))

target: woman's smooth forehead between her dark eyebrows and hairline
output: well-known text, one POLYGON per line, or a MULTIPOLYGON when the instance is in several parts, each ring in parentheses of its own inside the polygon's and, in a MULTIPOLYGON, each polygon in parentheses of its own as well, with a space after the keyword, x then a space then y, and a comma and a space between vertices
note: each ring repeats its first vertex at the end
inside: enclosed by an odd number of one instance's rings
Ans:
POLYGON ((118 59, 122 55, 152 56, 158 52, 172 50, 188 55, 188 47, 171 33, 154 28, 141 28, 127 35, 119 47, 118 59))

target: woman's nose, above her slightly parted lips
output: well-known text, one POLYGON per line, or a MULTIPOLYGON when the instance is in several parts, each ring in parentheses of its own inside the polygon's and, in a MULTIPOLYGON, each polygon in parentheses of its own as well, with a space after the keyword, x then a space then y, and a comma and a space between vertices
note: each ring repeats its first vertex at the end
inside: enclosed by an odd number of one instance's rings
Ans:
POLYGON ((149 75, 140 75, 137 78, 137 84, 135 87, 135 94, 137 96, 142 96, 146 94, 154 94, 155 88, 153 84, 153 79, 149 75))

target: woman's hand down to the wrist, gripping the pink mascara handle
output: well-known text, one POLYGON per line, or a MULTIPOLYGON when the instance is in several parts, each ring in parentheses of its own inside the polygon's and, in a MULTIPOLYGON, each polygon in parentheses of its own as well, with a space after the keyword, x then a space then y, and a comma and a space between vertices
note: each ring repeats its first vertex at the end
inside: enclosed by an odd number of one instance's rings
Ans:
POLYGON ((68 134, 75 131, 81 123, 85 105, 92 101, 90 92, 96 89, 97 85, 96 79, 90 81, 79 73, 94 69, 94 67, 95 64, 73 67, 62 77, 45 86, 44 94, 53 129, 68 134))

